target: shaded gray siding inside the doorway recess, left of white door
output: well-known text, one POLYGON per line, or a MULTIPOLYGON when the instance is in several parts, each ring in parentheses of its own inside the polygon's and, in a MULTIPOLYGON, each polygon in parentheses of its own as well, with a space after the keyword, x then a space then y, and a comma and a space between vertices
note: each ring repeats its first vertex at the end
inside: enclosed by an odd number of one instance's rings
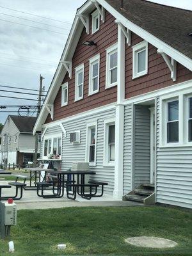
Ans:
POLYGON ((150 110, 134 106, 134 187, 150 182, 150 110))

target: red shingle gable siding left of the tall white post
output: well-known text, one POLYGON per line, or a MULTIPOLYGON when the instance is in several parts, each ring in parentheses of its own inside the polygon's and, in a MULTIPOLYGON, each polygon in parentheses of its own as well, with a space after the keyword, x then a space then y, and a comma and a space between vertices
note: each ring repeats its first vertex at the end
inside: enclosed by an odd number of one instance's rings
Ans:
MULTIPOLYGON (((106 22, 100 21, 100 29, 92 35, 92 19, 90 18, 90 35, 87 35, 85 29, 81 35, 72 60, 72 79, 65 76, 63 83, 68 81, 68 106, 61 108, 61 89, 54 101, 54 121, 67 116, 75 115, 89 109, 98 108, 116 102, 116 86, 106 90, 106 49, 117 42, 117 25, 115 18, 106 12, 106 22), (88 47, 82 45, 86 40, 93 40, 97 47, 88 47), (89 83, 89 59, 100 53, 100 83, 99 93, 88 96, 89 83), (75 99, 75 69, 78 65, 84 63, 84 99, 74 102, 75 99)), ((48 116, 46 122, 51 122, 48 116)))

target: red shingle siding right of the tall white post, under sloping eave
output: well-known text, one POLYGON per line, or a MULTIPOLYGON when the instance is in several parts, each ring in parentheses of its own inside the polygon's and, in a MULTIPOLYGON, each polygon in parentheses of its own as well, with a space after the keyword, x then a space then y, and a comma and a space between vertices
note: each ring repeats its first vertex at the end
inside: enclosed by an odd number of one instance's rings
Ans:
MULTIPOLYGON (((132 33, 132 45, 143 41, 132 33)), ((192 79, 192 72, 177 63, 177 81, 173 82, 171 73, 157 48, 148 44, 148 74, 132 79, 132 47, 126 46, 125 54, 125 98, 152 92, 167 86, 192 79)))

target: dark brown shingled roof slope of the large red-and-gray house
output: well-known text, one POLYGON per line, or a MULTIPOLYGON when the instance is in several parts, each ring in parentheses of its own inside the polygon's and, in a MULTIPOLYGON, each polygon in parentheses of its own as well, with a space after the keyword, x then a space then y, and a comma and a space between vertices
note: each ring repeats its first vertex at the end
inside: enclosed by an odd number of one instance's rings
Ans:
POLYGON ((192 12, 144 0, 106 0, 115 10, 192 59, 192 12))

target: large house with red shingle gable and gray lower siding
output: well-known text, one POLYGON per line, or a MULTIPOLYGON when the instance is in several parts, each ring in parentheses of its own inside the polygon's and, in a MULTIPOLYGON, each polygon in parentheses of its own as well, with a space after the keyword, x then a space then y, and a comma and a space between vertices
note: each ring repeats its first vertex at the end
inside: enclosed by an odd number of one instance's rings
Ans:
POLYGON ((115 198, 147 183, 155 202, 192 208, 192 13, 121 3, 77 10, 33 130, 41 158, 88 161, 115 198))

